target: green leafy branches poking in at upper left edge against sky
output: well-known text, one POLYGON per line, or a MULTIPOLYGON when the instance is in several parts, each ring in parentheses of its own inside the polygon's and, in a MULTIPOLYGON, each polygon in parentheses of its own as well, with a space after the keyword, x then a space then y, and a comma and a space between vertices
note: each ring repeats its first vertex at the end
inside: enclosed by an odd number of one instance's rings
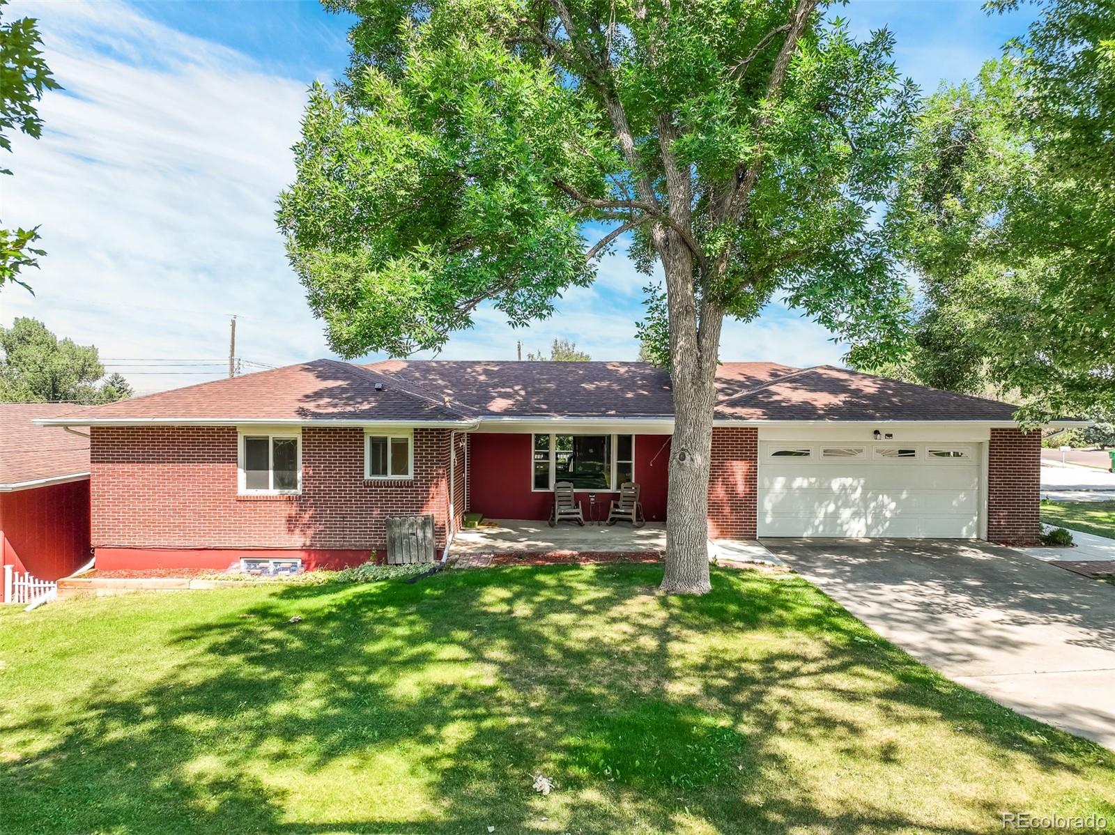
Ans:
MULTIPOLYGON (((60 89, 50 75, 50 68, 42 60, 39 30, 33 18, 19 18, 2 22, 3 7, 8 0, 0 0, 0 148, 11 151, 12 128, 36 139, 42 133, 36 104, 43 90, 60 89)), ((11 174, 9 168, 0 168, 0 174, 11 174)), ((0 289, 13 282, 28 290, 31 288, 19 278, 25 268, 38 266, 38 256, 45 255, 32 244, 39 240, 35 229, 8 230, 0 226, 0 289)))

